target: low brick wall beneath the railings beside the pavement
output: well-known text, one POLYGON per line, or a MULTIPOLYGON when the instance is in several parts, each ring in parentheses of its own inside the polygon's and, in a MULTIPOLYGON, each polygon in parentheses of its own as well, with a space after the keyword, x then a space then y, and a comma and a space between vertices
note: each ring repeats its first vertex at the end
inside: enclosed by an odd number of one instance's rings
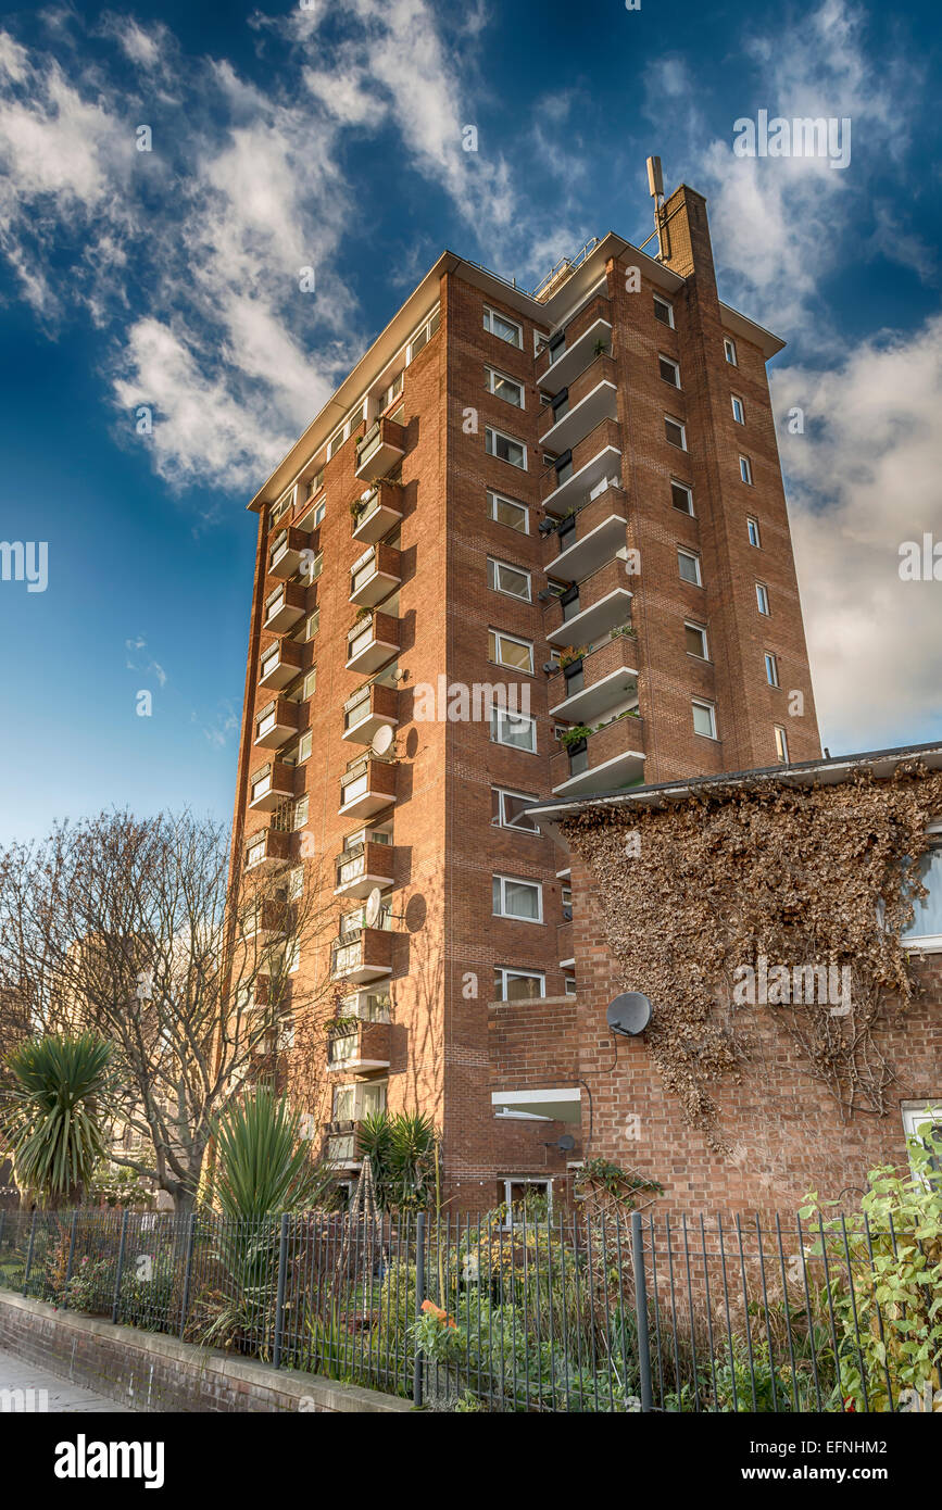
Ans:
POLYGON ((408 1400, 275 1370, 0 1290, 0 1348, 133 1410, 409 1412, 408 1400))

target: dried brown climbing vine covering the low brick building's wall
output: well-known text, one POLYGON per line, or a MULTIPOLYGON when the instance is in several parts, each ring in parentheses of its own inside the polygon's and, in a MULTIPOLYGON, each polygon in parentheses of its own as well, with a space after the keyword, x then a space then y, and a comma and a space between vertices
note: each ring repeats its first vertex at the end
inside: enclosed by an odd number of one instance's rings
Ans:
POLYGON ((842 1116, 888 1110, 895 1066, 883 1030, 900 1025, 915 978, 900 930, 924 895, 918 862, 942 815, 942 773, 918 761, 841 785, 756 778, 702 785, 661 809, 596 808, 566 818, 595 880, 620 989, 654 1003, 646 1042, 664 1090, 710 1145, 728 1148, 710 1083, 753 1057, 752 1012, 787 1034, 842 1116), (850 1010, 827 1001, 737 1010, 734 980, 759 957, 850 969, 850 1010))

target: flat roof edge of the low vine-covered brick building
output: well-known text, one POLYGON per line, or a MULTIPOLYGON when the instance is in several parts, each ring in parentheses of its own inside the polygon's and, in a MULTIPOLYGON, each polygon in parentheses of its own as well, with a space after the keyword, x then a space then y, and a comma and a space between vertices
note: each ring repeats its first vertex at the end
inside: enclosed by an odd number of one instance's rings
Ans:
POLYGON ((619 791, 593 791, 569 802, 534 802, 525 811, 546 818, 587 812, 590 808, 661 808, 681 802, 711 787, 744 787, 756 781, 783 787, 836 787, 854 770, 870 767, 876 776, 892 776, 903 761, 919 758, 930 770, 942 770, 942 744, 900 744, 888 750, 864 750, 859 755, 829 755, 821 760, 796 761, 793 766, 761 766, 756 770, 729 770, 717 776, 690 776, 682 781, 661 781, 649 787, 619 791))

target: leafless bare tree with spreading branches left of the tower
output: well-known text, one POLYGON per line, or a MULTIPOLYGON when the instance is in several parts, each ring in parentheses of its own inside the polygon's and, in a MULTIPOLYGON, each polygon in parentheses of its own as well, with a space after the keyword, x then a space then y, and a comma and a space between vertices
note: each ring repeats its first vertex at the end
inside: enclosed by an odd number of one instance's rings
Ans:
POLYGON ((334 1012, 312 861, 246 868, 192 814, 103 812, 0 852, 0 1000, 36 1031, 95 1027, 113 1045, 124 1166, 192 1208, 213 1125, 248 1080, 284 1083, 294 1031, 334 1012), (136 1137, 134 1137, 136 1134, 136 1137))

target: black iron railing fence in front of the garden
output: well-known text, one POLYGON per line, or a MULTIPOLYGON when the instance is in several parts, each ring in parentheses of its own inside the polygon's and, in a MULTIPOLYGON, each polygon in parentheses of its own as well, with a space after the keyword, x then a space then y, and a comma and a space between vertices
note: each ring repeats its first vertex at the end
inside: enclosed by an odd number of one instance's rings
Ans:
POLYGON ((940 1265, 888 1284, 918 1253, 794 1217, 0 1211, 6 1288, 448 1410, 939 1409, 940 1265))

